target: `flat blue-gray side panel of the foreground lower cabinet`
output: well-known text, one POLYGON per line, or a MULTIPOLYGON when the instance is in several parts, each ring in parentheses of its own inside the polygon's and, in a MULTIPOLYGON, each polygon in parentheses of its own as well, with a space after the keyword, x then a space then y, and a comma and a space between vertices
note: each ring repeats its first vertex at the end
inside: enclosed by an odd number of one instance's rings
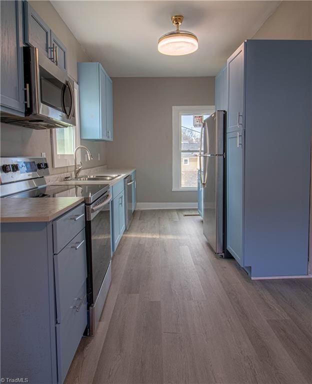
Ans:
POLYGON ((57 381, 51 237, 50 224, 1 223, 1 377, 57 381))

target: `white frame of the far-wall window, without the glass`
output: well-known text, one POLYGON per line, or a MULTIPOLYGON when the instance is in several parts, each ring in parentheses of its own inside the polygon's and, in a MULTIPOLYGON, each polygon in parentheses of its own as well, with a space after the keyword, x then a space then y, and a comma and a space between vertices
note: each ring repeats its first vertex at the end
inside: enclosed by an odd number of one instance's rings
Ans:
MULTIPOLYGON (((181 186, 181 115, 212 114, 215 105, 174 105, 172 106, 172 191, 196 191, 196 187, 181 186)), ((185 151, 183 151, 185 152, 185 151)))

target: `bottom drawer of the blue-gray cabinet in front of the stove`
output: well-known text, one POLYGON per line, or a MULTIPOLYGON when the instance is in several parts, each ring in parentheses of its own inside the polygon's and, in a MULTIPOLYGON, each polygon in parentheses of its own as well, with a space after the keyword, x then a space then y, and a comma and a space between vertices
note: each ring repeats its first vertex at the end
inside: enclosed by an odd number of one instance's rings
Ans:
POLYGON ((69 308, 63 321, 56 324, 58 382, 66 377, 71 360, 78 347, 87 323, 86 283, 84 281, 75 297, 82 298, 77 308, 69 308))

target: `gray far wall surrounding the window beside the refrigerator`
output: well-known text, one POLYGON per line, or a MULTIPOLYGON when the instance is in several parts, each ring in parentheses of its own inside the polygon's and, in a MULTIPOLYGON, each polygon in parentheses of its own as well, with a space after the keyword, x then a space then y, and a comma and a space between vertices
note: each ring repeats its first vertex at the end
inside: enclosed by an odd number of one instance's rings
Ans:
POLYGON ((138 202, 196 201, 196 192, 171 190, 172 105, 214 105, 214 77, 113 78, 107 163, 137 169, 138 202))

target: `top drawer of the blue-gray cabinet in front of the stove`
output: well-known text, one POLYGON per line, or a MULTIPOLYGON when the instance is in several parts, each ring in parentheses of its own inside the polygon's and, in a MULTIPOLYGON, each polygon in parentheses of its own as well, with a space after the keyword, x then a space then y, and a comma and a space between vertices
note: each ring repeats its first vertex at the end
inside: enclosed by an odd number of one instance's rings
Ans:
POLYGON ((84 204, 53 221, 53 249, 58 253, 84 228, 84 204))

